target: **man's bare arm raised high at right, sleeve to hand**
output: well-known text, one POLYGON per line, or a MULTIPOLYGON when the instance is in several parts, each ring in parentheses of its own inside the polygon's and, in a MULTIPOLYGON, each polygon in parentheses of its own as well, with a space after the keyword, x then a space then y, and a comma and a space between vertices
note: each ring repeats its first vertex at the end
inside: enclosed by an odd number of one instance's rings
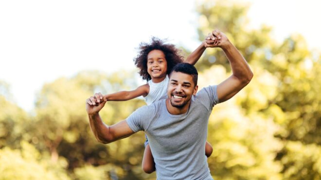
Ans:
POLYGON ((253 73, 242 54, 234 47, 224 33, 214 30, 205 42, 209 42, 207 47, 219 47, 223 49, 232 67, 233 74, 217 85, 219 102, 224 102, 245 87, 252 79, 253 73), (212 43, 210 39, 213 37, 220 37, 220 40, 212 43))

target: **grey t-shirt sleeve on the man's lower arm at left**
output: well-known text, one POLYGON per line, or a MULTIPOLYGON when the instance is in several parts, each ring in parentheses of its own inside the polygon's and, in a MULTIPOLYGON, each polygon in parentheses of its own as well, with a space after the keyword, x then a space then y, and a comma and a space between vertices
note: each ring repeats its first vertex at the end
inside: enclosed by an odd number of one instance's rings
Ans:
POLYGON ((151 119, 150 109, 148 106, 143 106, 126 118, 126 122, 132 131, 145 131, 147 129, 151 119))

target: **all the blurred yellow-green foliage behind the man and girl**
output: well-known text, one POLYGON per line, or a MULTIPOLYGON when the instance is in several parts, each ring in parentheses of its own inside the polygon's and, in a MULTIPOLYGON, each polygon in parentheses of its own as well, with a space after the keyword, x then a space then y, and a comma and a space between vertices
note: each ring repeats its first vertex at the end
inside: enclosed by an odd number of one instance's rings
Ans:
MULTIPOLYGON (((197 2, 199 40, 214 28, 221 30, 254 73, 250 84, 217 105, 210 117, 212 175, 215 180, 320 180, 321 55, 310 51, 300 34, 278 43, 267 25, 249 29, 249 7, 231 0, 197 2)), ((200 88, 231 75, 220 49, 207 49, 196 67, 200 88)), ((85 99, 94 92, 138 85, 133 71, 80 72, 44 84, 35 115, 29 115, 12 102, 9 85, 0 82, 0 180, 155 179, 155 173, 141 168, 142 132, 100 144, 85 111, 85 99)), ((114 124, 144 104, 141 98, 107 102, 101 116, 114 124)))

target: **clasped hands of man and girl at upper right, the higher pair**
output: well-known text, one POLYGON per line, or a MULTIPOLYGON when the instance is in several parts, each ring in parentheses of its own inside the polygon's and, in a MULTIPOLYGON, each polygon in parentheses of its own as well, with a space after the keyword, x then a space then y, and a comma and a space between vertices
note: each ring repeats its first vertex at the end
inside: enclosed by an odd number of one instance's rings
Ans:
POLYGON ((203 41, 205 48, 223 48, 230 43, 227 36, 215 29, 212 33, 209 33, 203 41))

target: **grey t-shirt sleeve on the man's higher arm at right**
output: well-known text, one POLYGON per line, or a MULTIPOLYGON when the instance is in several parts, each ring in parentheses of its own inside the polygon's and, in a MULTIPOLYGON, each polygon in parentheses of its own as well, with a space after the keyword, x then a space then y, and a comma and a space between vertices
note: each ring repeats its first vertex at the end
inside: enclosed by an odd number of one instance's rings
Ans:
POLYGON ((200 102, 210 110, 214 107, 215 104, 219 103, 216 88, 216 85, 207 86, 197 93, 197 98, 200 100, 200 102))

